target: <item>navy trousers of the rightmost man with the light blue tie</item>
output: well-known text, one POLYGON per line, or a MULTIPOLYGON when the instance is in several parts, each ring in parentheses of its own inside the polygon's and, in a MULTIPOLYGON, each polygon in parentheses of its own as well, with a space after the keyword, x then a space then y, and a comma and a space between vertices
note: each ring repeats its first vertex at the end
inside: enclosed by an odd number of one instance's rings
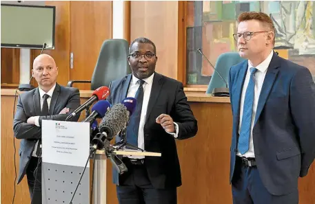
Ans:
POLYGON ((267 191, 256 166, 245 166, 236 156, 234 176, 232 179, 233 204, 297 204, 298 190, 274 196, 267 191))

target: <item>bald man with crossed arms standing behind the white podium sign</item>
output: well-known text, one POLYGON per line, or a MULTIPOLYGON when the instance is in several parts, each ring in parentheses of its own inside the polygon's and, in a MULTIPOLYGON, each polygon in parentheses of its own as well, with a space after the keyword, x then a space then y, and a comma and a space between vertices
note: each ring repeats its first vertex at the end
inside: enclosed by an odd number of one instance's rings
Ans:
MULTIPOLYGON (((48 54, 34 59, 32 77, 39 87, 19 95, 13 130, 20 143, 19 184, 26 174, 32 204, 41 203, 41 122, 63 121, 80 106, 79 90, 57 84, 58 67, 48 54)), ((79 120, 79 115, 72 121, 79 120)))

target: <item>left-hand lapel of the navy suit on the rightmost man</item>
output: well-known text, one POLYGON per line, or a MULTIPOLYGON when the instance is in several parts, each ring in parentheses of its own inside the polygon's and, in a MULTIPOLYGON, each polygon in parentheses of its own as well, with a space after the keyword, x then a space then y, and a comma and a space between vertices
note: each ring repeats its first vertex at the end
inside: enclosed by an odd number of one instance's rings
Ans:
POLYGON ((248 68, 248 61, 246 60, 245 63, 243 63, 243 67, 241 67, 241 70, 238 73, 238 77, 236 78, 236 93, 235 93, 235 98, 236 98, 236 104, 234 107, 234 110, 236 110, 236 115, 237 117, 237 127, 239 124, 239 115, 240 115, 240 106, 241 106, 241 95, 243 91, 243 84, 245 81, 246 73, 247 73, 247 68, 248 68))

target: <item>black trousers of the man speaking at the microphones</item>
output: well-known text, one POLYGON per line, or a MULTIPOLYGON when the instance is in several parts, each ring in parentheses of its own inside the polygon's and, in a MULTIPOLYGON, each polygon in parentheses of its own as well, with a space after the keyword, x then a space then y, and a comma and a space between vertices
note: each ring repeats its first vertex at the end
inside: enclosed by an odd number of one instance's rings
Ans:
POLYGON ((143 164, 132 164, 123 159, 128 166, 128 173, 120 179, 116 186, 119 204, 176 204, 176 187, 156 189, 148 178, 148 172, 143 164), (128 164, 129 163, 129 164, 128 164))

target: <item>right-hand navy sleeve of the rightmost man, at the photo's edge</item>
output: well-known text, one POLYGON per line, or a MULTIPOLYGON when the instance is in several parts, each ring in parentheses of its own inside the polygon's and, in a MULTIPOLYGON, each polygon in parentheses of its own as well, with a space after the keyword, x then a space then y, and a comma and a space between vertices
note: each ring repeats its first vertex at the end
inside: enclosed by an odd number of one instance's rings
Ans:
POLYGON ((305 177, 315 158, 315 84, 307 68, 299 69, 290 89, 290 109, 301 146, 300 177, 305 177))

